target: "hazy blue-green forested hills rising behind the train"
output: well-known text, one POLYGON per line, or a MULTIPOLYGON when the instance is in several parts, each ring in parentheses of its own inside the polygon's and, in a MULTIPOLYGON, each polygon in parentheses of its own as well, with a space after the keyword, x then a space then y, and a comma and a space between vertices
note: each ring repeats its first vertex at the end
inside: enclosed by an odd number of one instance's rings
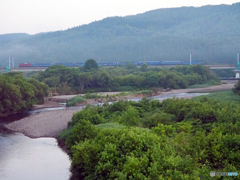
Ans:
POLYGON ((0 35, 0 64, 125 61, 236 63, 240 3, 152 10, 65 31, 0 35))

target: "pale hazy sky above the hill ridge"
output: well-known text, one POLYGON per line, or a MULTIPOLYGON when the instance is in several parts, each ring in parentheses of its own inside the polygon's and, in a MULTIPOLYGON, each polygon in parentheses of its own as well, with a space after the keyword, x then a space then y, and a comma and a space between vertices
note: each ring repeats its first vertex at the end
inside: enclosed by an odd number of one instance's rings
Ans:
MULTIPOLYGON (((240 0, 238 0, 240 1, 240 0)), ((153 9, 232 4, 234 0, 0 0, 0 34, 65 30, 153 9)))

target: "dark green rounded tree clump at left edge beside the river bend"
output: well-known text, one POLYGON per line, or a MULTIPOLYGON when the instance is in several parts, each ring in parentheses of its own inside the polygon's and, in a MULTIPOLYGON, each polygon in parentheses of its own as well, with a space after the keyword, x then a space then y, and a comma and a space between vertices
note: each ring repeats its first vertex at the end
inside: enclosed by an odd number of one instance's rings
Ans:
POLYGON ((0 75, 0 117, 25 112, 34 104, 43 103, 48 86, 36 79, 26 79, 21 73, 0 75))

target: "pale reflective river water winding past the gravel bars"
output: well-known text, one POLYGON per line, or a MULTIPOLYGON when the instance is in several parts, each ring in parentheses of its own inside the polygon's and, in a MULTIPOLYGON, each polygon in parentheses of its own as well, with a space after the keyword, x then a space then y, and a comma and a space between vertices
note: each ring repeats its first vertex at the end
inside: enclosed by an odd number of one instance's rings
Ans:
MULTIPOLYGON (((206 94, 208 93, 179 93, 154 96, 151 99, 164 100, 206 94)), ((139 101, 141 99, 132 100, 139 101)), ((32 139, 22 133, 7 130, 3 126, 29 114, 63 108, 33 110, 26 114, 14 115, 0 120, 0 180, 67 180, 70 178, 71 161, 58 146, 55 138, 32 139)))

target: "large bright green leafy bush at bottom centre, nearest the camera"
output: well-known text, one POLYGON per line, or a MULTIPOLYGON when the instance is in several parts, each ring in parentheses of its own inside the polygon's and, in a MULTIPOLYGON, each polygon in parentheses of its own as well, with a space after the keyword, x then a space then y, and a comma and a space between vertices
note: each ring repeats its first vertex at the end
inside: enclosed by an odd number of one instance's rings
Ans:
POLYGON ((160 136, 140 129, 105 129, 72 147, 78 179, 197 179, 196 165, 160 136))

